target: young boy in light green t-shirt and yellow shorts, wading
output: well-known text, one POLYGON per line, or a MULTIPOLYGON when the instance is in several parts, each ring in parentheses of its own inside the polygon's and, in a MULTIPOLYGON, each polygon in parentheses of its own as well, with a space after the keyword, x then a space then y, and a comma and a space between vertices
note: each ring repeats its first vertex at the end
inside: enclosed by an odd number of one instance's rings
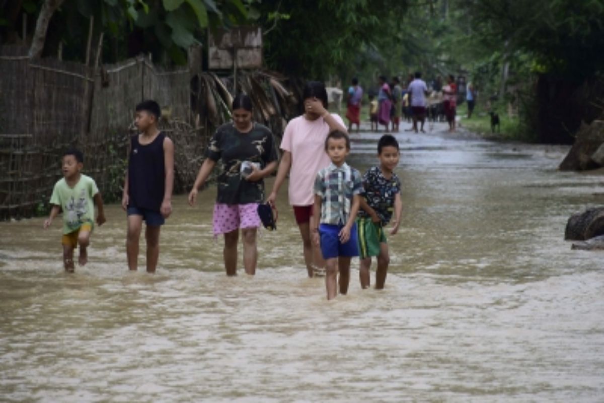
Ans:
POLYGON ((68 272, 74 271, 74 249, 80 245, 78 262, 83 266, 88 262, 86 249, 90 244, 90 234, 94 227, 94 204, 97 205, 97 224, 105 222, 103 199, 97 184, 89 176, 82 175, 84 156, 80 150, 71 149, 63 154, 63 179, 53 189, 50 203, 53 208, 44 221, 44 228, 50 227, 53 219, 63 211, 63 265, 68 272), (93 204, 94 201, 94 204, 93 204))

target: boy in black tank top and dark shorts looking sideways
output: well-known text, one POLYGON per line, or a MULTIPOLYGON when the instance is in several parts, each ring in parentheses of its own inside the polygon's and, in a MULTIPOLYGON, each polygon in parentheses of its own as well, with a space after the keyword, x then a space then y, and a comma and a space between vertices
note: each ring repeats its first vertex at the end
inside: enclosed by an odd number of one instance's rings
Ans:
POLYGON ((161 115, 158 103, 146 100, 137 105, 135 123, 140 131, 130 138, 128 170, 121 206, 128 217, 126 254, 128 268, 138 268, 138 243, 146 222, 147 272, 155 272, 159 259, 159 230, 172 213, 174 144, 157 128, 161 115))

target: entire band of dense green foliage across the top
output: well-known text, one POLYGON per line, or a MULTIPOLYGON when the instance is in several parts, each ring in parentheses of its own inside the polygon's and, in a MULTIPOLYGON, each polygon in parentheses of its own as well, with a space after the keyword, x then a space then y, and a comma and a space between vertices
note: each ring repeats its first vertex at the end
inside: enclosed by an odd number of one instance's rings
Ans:
POLYGON ((522 129, 541 141, 571 141, 580 120, 594 116, 582 115, 583 105, 601 97, 592 91, 589 102, 571 103, 602 76, 602 0, 0 0, 0 44, 21 43, 24 28, 31 41, 42 6, 53 2, 60 6, 44 54, 62 50, 68 60, 85 60, 93 16, 104 62, 150 53, 182 64, 208 29, 256 24, 266 66, 280 73, 342 85, 357 76, 365 87, 379 74, 417 69, 428 80, 463 75, 479 100, 515 103, 522 129))

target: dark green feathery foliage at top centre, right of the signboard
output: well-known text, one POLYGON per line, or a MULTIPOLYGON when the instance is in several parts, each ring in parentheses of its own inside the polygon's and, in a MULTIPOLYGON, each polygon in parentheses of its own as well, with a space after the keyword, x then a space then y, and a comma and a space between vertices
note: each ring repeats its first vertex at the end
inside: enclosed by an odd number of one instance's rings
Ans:
POLYGON ((269 0, 255 7, 260 24, 268 28, 268 66, 292 76, 327 79, 364 47, 393 34, 384 24, 400 27, 408 0, 269 0))

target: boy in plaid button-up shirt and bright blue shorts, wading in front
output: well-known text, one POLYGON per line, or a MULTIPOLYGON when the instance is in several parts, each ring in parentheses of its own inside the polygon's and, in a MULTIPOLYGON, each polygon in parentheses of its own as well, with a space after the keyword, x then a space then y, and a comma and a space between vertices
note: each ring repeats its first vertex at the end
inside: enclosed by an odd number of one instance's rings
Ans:
POLYGON ((350 259, 359 256, 355 217, 359 211, 363 184, 361 173, 346 164, 350 138, 333 131, 325 140, 332 163, 321 169, 315 179, 315 203, 310 219, 312 240, 321 245, 326 260, 327 299, 346 294, 350 283, 350 259))

